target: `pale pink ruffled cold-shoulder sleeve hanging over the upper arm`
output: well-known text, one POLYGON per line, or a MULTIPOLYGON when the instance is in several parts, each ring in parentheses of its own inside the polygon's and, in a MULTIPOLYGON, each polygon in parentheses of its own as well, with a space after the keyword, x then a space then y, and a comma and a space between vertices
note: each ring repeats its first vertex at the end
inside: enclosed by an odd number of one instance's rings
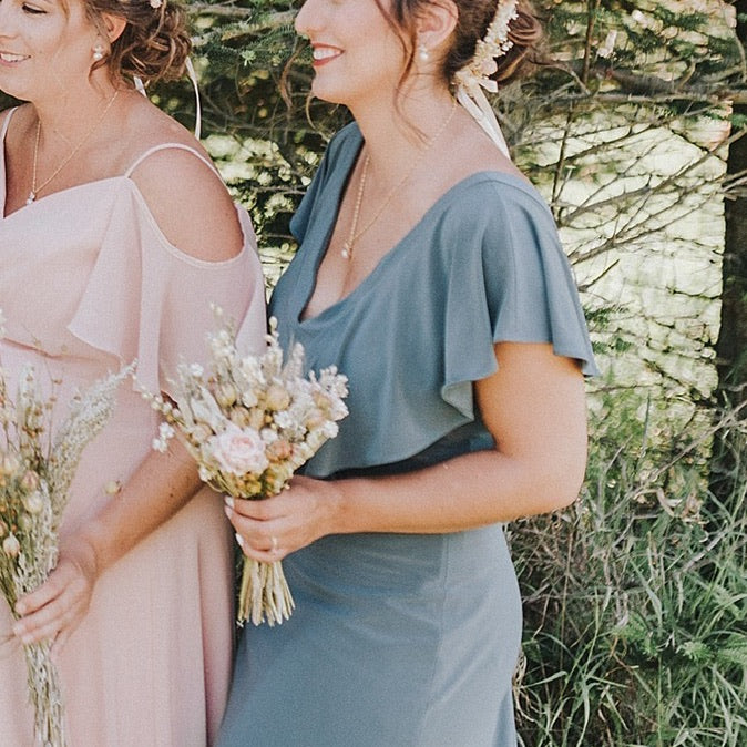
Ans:
POLYGON ((136 360, 139 381, 151 391, 170 392, 178 362, 206 360, 205 336, 216 327, 211 304, 239 324, 247 351, 262 349, 262 267, 248 215, 237 212, 242 253, 204 262, 166 241, 134 185, 123 192, 69 330, 122 365, 136 360))

